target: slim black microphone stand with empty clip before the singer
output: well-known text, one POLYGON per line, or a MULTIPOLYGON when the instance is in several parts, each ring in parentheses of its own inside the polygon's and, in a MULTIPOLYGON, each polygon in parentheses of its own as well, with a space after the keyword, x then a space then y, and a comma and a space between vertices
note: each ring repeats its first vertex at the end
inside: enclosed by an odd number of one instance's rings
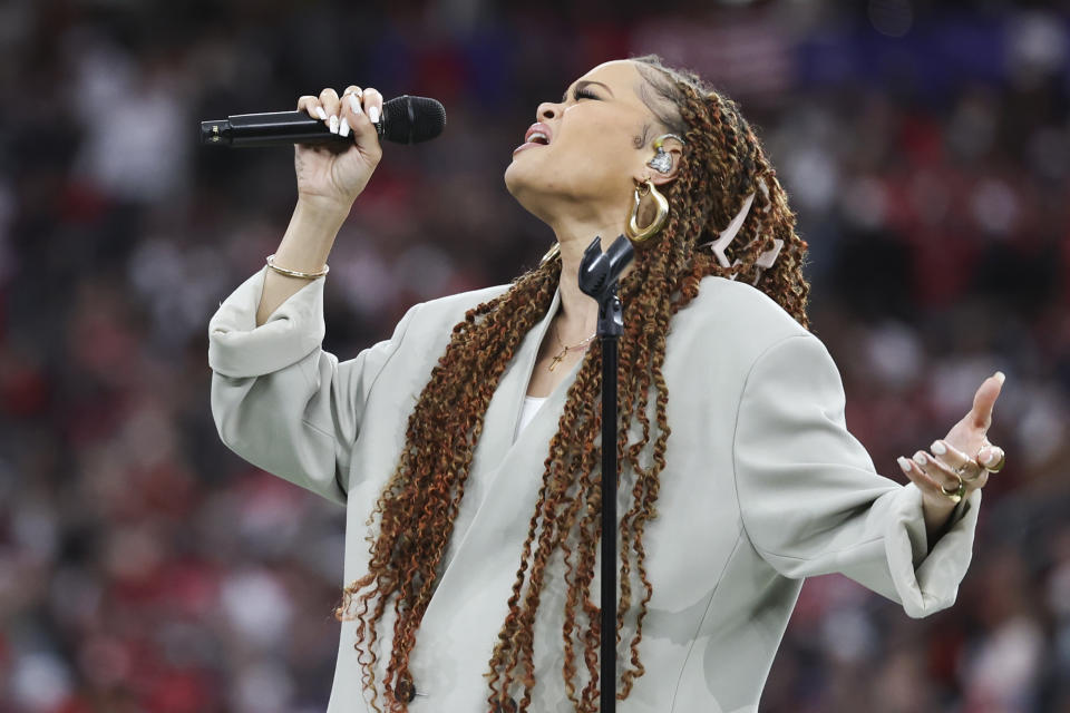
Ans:
POLYGON ((595 237, 580 263, 580 290, 599 303, 596 334, 602 344, 602 625, 601 713, 616 711, 616 370, 617 339, 624 331, 617 280, 635 251, 623 235, 602 252, 595 237))

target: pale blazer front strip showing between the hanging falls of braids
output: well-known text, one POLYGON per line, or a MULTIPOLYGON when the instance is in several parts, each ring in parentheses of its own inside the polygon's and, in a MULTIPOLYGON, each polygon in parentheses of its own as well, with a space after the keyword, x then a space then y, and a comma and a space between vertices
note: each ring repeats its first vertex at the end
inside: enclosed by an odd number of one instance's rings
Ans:
POLYGON ((546 449, 583 363, 573 365, 514 441, 538 348, 558 304, 560 293, 524 339, 487 409, 458 514, 458 525, 468 518, 470 525, 454 530, 446 569, 424 614, 410 661, 420 694, 414 704, 434 706, 451 688, 484 684, 461 672, 471 662, 489 661, 542 485, 546 449))

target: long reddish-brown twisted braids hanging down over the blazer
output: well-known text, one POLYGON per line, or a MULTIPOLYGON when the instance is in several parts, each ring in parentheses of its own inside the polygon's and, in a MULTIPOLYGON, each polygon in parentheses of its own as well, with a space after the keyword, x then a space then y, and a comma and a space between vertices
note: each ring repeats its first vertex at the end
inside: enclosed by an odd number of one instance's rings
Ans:
MULTIPOLYGON (((670 434, 665 414, 669 391, 662 374, 670 321, 696 297, 700 281, 709 275, 746 280, 802 326, 808 326, 809 292, 802 275, 807 245, 796 234, 795 214, 776 172, 736 102, 697 75, 667 67, 654 55, 632 61, 660 97, 648 105, 687 145, 665 194, 670 217, 655 244, 638 251, 634 268, 620 285, 624 334, 616 448, 620 467, 633 471, 634 485, 631 506, 620 522, 616 633, 623 636, 626 613, 631 612, 635 622, 628 661, 622 661, 617 693, 622 700, 644 673, 639 645, 653 589, 646 576, 643 531, 655 514, 670 434), (702 244, 726 228, 749 194, 755 196, 753 205, 727 252, 728 258, 738 263, 726 268, 702 244), (755 263, 777 238, 784 241, 779 256, 772 267, 762 270, 755 263), (632 426, 642 436, 630 443, 632 426), (639 583, 634 593, 633 573, 639 583)), ((387 709, 403 712, 414 690, 409 656, 441 574, 439 566, 465 495, 487 407, 522 340, 545 316, 560 274, 560 257, 546 261, 516 279, 502 295, 468 311, 454 326, 449 345, 409 417, 397 469, 369 518, 378 534, 368 537, 368 574, 344 588, 334 612, 340 621, 359 619, 356 648, 362 683, 377 711, 381 711, 374 674, 377 625, 392 607, 392 651, 381 683, 387 709)), ((600 364, 601 350, 595 343, 568 389, 557 432, 549 442, 508 615, 485 674, 492 710, 526 711, 532 702, 533 628, 547 563, 557 551, 567 586, 562 631, 565 691, 578 713, 597 710, 601 633, 591 589, 601 511, 600 364), (585 667, 582 687, 580 666, 585 667)))

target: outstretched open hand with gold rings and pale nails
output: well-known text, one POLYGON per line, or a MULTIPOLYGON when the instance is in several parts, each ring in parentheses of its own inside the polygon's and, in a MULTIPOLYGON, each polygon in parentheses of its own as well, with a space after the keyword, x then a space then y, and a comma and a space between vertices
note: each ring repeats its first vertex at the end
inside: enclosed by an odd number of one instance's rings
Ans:
POLYGON ((1003 449, 988 438, 1003 380, 1001 371, 985 379, 973 397, 973 408, 951 427, 947 436, 933 441, 931 452, 918 450, 913 459, 897 461, 922 491, 930 535, 946 522, 960 499, 983 488, 989 475, 1003 468, 1003 449))

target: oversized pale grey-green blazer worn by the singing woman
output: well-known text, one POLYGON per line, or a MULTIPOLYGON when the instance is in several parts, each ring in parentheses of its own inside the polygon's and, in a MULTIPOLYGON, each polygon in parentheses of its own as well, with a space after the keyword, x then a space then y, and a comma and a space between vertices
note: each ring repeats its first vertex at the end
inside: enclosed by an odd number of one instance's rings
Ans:
MULTIPOLYGON (((347 508, 341 586, 366 572, 364 521, 393 472, 408 416, 450 328, 506 287, 418 304, 388 341, 339 362, 321 349, 324 279, 255 326, 264 271, 212 318, 212 412, 221 438, 242 458, 347 508)), ((524 339, 487 411, 445 574, 411 657, 416 713, 486 711, 481 674, 505 619, 547 446, 578 370, 517 434, 557 304, 555 297, 524 339)), ((620 713, 755 711, 804 577, 843 573, 912 617, 954 603, 981 491, 960 504, 930 551, 921 491, 877 475, 845 427, 843 385, 828 351, 772 300, 743 283, 703 280, 700 295, 673 318, 664 374, 672 436, 660 516, 645 537, 653 585, 640 645, 646 673, 619 702, 620 713)), ((623 477, 622 504, 631 490, 630 475, 623 477)), ((546 582, 532 710, 564 713, 572 709, 561 674, 560 558, 546 582)), ((388 617, 382 652, 390 651, 391 627, 388 617)), ((351 622, 341 626, 329 713, 366 710, 353 631, 351 622)))

